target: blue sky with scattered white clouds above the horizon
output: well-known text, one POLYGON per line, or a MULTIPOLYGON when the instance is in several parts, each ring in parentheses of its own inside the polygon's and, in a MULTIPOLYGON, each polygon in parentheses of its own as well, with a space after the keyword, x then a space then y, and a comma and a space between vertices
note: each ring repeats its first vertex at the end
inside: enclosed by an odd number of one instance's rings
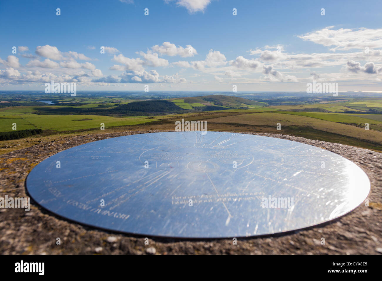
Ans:
POLYGON ((0 89, 382 91, 381 18, 381 1, 2 1, 0 89))

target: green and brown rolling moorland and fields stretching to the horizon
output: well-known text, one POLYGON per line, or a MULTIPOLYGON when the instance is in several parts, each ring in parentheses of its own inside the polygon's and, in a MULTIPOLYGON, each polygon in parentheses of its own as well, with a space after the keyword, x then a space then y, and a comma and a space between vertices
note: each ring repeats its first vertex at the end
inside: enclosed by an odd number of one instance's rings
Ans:
POLYGON ((0 94, 0 132, 41 129, 0 143, 0 154, 66 135, 121 130, 174 130, 175 121, 207 121, 207 130, 302 136, 382 151, 382 98, 207 95, 168 99, 119 96, 6 96, 0 94), (39 101, 51 101, 47 104, 39 101), (100 130, 104 123, 105 130, 100 130), (277 130, 280 123, 281 130, 277 130), (368 125, 369 130, 365 130, 368 125))

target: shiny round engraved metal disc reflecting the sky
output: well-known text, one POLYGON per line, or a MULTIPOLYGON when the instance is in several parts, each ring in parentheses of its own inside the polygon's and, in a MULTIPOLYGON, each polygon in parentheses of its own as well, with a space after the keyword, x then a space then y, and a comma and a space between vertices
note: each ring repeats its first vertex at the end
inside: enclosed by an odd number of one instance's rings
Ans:
POLYGON ((325 149, 224 132, 79 145, 38 164, 26 185, 41 206, 79 223, 194 238, 313 226, 353 210, 370 190, 362 169, 325 149))

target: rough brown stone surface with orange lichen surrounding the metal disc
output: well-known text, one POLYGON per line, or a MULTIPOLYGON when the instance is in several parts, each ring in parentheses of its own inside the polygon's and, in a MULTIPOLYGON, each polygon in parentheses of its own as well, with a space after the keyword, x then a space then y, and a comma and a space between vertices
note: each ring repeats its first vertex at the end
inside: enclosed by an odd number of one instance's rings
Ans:
MULTIPOLYGON (((91 141, 150 131, 58 137, 0 156, 0 197, 27 197, 25 179, 42 160, 91 141)), ((163 131, 161 131, 163 132, 163 131)), ((272 236, 232 239, 167 239, 102 231, 59 218, 33 200, 24 209, 0 209, 1 254, 380 254, 382 253, 382 154, 295 136, 253 133, 327 149, 361 167, 371 181, 369 206, 320 226, 272 236), (60 237, 61 244, 56 244, 60 237), (321 244, 321 238, 325 244, 321 244)))

